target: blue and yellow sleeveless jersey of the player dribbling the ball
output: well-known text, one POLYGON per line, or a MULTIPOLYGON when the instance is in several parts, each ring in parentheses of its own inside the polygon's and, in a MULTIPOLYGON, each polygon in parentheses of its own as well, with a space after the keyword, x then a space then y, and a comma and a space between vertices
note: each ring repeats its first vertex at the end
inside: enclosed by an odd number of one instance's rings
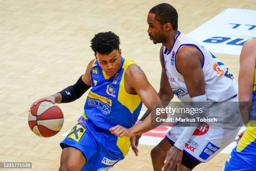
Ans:
POLYGON ((116 125, 131 128, 135 124, 142 102, 137 94, 128 94, 124 87, 125 71, 131 64, 136 63, 122 57, 120 69, 113 77, 105 74, 97 60, 92 64, 92 89, 84 105, 83 117, 98 128, 109 130, 116 125))

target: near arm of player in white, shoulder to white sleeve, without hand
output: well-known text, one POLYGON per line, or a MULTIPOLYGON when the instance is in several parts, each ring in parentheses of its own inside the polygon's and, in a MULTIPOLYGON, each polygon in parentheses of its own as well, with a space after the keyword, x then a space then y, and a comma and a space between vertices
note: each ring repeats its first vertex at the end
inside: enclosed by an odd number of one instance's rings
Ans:
MULTIPOLYGON (((195 46, 184 46, 176 56, 177 69, 184 77, 189 96, 196 104, 207 101, 202 61, 203 56, 195 46)), ((196 128, 197 126, 186 127, 174 146, 183 150, 196 128)))

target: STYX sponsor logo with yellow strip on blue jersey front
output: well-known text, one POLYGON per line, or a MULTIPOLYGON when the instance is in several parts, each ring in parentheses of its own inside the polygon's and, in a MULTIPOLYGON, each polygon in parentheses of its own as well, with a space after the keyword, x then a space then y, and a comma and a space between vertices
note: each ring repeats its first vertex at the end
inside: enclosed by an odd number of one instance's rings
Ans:
POLYGON ((104 115, 109 115, 111 106, 112 106, 112 100, 108 99, 107 97, 101 96, 99 94, 96 94, 92 91, 89 92, 87 97, 87 102, 89 107, 96 107, 99 109, 104 115))

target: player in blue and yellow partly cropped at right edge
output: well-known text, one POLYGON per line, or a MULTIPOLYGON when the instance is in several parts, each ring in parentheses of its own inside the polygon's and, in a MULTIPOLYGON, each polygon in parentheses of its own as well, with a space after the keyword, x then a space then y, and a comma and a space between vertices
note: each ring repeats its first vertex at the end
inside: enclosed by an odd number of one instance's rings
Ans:
POLYGON ((241 139, 226 161, 224 171, 256 171, 256 38, 243 44, 238 83, 238 99, 247 127, 239 135, 241 139), (245 102, 252 102, 249 116, 243 112, 245 102))

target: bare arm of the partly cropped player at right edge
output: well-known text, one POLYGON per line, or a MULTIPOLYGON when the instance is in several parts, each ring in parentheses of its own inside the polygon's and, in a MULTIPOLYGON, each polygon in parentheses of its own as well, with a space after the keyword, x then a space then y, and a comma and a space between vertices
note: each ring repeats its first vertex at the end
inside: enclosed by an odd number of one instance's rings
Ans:
POLYGON ((248 108, 253 99, 253 79, 256 62, 256 39, 243 44, 240 55, 240 71, 238 78, 238 99, 244 123, 248 123, 248 108), (251 90, 251 91, 248 91, 251 90))

